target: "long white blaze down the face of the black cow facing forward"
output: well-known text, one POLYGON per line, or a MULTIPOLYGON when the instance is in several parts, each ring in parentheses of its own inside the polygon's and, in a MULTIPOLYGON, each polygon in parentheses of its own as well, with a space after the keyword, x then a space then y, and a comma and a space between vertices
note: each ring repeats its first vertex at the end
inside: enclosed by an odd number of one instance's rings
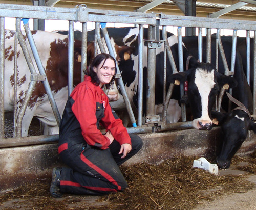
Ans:
POLYGON ((195 84, 198 88, 199 94, 201 96, 202 104, 202 115, 200 118, 195 119, 193 121, 193 126, 199 129, 198 122, 203 123, 212 123, 209 115, 208 115, 208 102, 209 102, 209 94, 211 89, 216 84, 214 82, 214 70, 211 72, 207 72, 203 69, 197 69, 195 73, 195 84))

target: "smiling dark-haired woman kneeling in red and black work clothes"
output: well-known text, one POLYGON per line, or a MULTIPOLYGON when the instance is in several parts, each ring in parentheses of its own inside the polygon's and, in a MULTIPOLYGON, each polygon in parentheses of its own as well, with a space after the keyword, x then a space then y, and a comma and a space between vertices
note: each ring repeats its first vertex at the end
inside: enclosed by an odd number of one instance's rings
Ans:
POLYGON ((58 152, 70 168, 53 169, 50 192, 55 198, 62 193, 103 195, 127 187, 118 166, 140 150, 142 141, 127 133, 102 90, 113 84, 115 74, 115 59, 97 55, 67 101, 58 152), (99 125, 106 128, 106 134, 99 125))

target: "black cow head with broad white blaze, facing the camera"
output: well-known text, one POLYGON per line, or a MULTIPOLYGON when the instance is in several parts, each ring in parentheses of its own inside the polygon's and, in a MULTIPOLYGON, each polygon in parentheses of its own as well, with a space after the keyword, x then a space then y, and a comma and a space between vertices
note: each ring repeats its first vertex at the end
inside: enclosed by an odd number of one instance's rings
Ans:
POLYGON ((237 85, 234 78, 218 73, 209 63, 199 63, 193 58, 193 67, 185 72, 178 72, 168 77, 170 83, 175 80, 188 83, 188 102, 193 115, 192 125, 196 129, 212 128, 211 109, 216 95, 224 84, 230 88, 237 85))

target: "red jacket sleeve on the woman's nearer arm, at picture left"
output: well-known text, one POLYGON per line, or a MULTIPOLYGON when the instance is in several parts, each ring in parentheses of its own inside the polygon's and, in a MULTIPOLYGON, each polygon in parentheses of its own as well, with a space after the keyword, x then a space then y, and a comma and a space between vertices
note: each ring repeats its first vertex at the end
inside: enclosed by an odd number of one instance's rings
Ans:
POLYGON ((75 102, 72 111, 80 123, 83 138, 89 145, 106 149, 110 140, 101 134, 96 125, 96 92, 84 86, 81 89, 73 96, 75 102))

